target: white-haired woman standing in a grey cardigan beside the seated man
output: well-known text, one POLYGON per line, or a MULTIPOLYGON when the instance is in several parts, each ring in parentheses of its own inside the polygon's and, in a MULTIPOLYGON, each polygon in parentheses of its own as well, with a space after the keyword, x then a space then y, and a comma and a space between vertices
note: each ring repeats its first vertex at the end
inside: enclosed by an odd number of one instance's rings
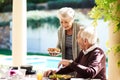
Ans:
MULTIPOLYGON (((76 38, 77 33, 81 29, 78 23, 74 21, 75 11, 70 7, 63 7, 58 11, 58 19, 60 27, 58 30, 58 44, 63 59, 74 60, 80 51, 78 48, 76 38)), ((49 53, 54 56, 54 53, 49 53)))

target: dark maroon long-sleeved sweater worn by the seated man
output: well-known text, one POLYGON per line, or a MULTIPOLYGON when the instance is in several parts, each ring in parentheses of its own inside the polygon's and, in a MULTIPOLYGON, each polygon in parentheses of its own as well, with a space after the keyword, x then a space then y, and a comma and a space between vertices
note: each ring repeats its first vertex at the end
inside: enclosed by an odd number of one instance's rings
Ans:
POLYGON ((104 52, 100 48, 95 48, 84 55, 81 51, 75 61, 60 69, 57 74, 67 74, 73 71, 77 72, 77 78, 106 80, 106 57, 104 52))

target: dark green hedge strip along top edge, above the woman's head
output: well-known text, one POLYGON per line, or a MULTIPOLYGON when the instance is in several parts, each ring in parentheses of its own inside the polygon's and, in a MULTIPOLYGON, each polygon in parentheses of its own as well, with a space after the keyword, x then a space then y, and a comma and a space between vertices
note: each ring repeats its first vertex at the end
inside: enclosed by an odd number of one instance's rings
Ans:
POLYGON ((61 7, 90 8, 95 5, 94 1, 90 0, 50 0, 47 4, 49 9, 59 9, 61 7))

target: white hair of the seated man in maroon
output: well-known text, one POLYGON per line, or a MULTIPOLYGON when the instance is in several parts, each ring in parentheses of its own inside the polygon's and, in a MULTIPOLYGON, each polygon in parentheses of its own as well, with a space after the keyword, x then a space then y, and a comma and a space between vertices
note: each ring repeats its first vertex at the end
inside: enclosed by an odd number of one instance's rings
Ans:
POLYGON ((83 40, 87 39, 90 44, 97 43, 97 33, 94 27, 86 27, 80 34, 83 40))

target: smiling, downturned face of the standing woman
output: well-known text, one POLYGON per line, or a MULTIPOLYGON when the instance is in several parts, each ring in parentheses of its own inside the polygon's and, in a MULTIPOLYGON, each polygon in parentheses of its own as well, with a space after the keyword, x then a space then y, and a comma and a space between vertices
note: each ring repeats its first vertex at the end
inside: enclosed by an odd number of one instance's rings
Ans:
POLYGON ((69 30, 72 28, 73 20, 60 18, 60 25, 65 29, 69 30))

